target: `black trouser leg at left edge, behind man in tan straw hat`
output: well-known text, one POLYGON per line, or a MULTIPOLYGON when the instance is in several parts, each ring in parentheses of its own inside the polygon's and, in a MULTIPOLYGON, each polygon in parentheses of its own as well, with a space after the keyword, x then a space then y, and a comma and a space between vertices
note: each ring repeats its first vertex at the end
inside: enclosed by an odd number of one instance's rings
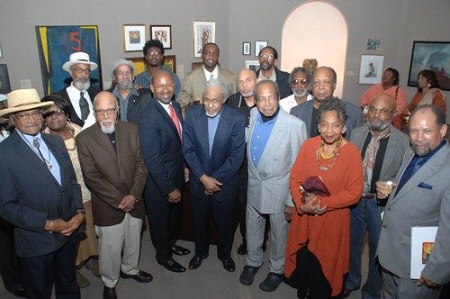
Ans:
POLYGON ((14 288, 22 285, 19 258, 14 249, 14 226, 0 218, 0 275, 4 287, 14 292, 14 288))

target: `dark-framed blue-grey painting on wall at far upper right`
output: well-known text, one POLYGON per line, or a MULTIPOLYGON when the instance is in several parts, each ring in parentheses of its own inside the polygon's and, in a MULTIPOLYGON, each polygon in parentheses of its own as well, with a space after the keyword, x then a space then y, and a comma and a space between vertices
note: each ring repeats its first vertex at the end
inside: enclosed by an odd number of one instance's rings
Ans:
POLYGON ((422 69, 435 72, 442 90, 450 90, 450 41, 413 41, 408 86, 418 86, 422 69))

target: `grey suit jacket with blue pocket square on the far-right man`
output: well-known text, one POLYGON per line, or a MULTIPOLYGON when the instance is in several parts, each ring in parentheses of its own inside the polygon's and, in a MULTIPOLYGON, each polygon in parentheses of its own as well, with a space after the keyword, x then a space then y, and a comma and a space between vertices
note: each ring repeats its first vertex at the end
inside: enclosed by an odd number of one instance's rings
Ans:
MULTIPOLYGON (((396 178, 400 181, 414 154, 407 151, 396 178)), ((380 264, 397 276, 410 278, 411 227, 438 226, 435 248, 422 271, 437 284, 450 281, 450 144, 425 163, 384 210, 378 242, 380 264), (423 187, 424 184, 431 186, 423 187)))

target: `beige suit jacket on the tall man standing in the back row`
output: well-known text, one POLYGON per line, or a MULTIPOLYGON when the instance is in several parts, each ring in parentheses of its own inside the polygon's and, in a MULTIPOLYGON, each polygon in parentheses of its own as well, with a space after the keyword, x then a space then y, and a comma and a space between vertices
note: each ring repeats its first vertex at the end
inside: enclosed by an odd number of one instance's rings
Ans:
MULTIPOLYGON (((229 95, 233 95, 236 93, 236 78, 233 76, 229 70, 225 68, 219 68, 219 77, 218 79, 227 87, 227 94, 225 98, 228 98, 229 95)), ((200 102, 202 100, 204 87, 206 86, 206 77, 204 77, 203 67, 194 68, 189 74, 184 77, 183 86, 176 99, 181 105, 182 109, 185 109, 186 106, 194 104, 194 102, 200 102)))

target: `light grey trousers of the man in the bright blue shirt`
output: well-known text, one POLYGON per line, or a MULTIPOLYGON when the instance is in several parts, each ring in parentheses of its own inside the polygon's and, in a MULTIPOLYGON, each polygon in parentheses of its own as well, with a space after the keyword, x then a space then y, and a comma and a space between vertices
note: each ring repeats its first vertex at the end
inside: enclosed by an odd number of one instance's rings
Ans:
POLYGON ((266 218, 270 221, 269 231, 269 271, 284 273, 284 255, 289 223, 282 213, 259 213, 251 204, 247 204, 247 266, 263 265, 263 242, 266 218))

